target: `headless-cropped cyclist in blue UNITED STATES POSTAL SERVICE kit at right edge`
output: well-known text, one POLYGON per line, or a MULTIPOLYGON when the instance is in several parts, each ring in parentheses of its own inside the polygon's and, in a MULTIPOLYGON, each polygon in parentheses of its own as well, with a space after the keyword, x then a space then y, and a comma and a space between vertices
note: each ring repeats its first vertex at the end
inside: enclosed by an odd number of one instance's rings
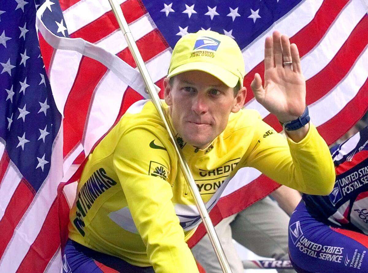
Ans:
POLYGON ((299 273, 368 273, 368 127, 331 148, 335 187, 303 194, 289 223, 290 260, 299 273))

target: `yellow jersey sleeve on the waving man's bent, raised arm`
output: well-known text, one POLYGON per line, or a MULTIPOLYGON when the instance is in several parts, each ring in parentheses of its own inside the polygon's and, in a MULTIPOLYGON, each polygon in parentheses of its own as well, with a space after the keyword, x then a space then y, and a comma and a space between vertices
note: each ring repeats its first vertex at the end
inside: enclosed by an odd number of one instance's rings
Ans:
POLYGON ((304 139, 296 143, 277 134, 258 119, 254 148, 245 165, 254 167, 276 182, 304 193, 327 195, 335 182, 335 168, 326 142, 309 123, 304 139))

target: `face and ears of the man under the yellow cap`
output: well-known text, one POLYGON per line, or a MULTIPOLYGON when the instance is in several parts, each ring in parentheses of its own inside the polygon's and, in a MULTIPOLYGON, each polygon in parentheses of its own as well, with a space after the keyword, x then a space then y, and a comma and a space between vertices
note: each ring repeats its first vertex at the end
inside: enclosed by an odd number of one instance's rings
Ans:
POLYGON ((202 71, 188 71, 164 81, 165 101, 173 126, 187 142, 206 148, 225 129, 231 112, 243 106, 245 88, 234 97, 233 88, 202 71))

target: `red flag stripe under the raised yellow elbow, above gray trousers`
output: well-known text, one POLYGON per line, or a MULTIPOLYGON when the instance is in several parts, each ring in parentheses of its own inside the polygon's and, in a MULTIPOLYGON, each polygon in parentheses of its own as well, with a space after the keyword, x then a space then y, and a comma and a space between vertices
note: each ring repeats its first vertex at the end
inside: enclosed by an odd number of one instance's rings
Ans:
MULTIPOLYGON (((280 184, 262 174, 248 185, 222 197, 215 207, 212 208, 209 214, 213 225, 217 225, 222 219, 244 210, 244 208, 247 208, 256 201, 268 196, 279 187, 280 184), (234 204, 234 200, 238 200, 236 204, 234 204)), ((201 223, 193 236, 188 240, 187 243, 189 247, 194 247, 194 245, 197 244, 205 234, 205 227, 203 223, 201 223)))

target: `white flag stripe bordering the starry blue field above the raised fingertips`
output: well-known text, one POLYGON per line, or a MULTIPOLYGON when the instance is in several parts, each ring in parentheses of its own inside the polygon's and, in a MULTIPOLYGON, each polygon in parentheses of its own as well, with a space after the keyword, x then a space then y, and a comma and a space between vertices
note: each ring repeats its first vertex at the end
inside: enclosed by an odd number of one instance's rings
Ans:
POLYGON ((262 33, 254 43, 244 48, 243 57, 245 62, 245 73, 250 72, 258 63, 264 59, 265 40, 272 36, 272 32, 279 30, 282 34, 291 37, 299 32, 304 26, 312 21, 316 12, 321 7, 323 0, 306 0, 286 17, 279 19, 265 33, 262 33))

